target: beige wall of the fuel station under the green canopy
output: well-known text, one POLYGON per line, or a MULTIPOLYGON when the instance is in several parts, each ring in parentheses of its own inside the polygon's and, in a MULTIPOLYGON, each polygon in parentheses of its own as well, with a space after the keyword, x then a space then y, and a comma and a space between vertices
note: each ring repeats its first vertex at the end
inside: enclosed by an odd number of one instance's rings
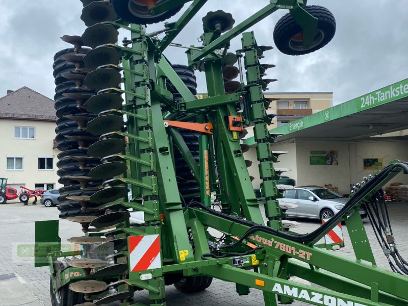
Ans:
MULTIPOLYGON (((370 141, 370 142, 335 142, 335 141, 288 141, 276 143, 272 146, 275 151, 289 151, 281 155, 278 168, 292 169, 283 175, 295 180, 296 185, 331 184, 339 188, 339 193, 349 194, 350 184, 361 182, 363 176, 374 174, 376 170, 364 170, 363 159, 382 158, 386 166, 391 160, 408 161, 408 142, 397 141, 370 141), (338 165, 310 165, 310 151, 338 151, 338 165)), ((256 150, 251 148, 246 159, 253 161, 249 168, 250 175, 258 179, 258 163, 256 150), (254 174, 257 175, 254 175, 254 174)), ((408 175, 399 174, 392 182, 408 184, 408 175)), ((259 188, 260 180, 254 180, 254 188, 259 188)), ((389 185, 389 184, 388 184, 389 185)))

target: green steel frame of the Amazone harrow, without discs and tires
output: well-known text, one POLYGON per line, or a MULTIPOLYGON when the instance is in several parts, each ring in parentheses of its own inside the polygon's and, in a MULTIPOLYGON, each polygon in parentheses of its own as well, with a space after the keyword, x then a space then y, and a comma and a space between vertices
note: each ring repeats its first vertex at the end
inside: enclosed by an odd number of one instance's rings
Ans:
MULTIPOLYGON (((187 2, 190 1, 163 1, 152 8, 151 12, 165 12, 187 2)), ((268 133, 267 124, 270 119, 265 111, 268 101, 262 93, 266 87, 261 77, 264 71, 259 63, 263 50, 258 46, 254 34, 245 31, 276 10, 289 9, 304 29, 304 44, 307 46, 316 31, 317 21, 302 9, 305 1, 271 0, 265 8, 232 30, 221 34, 220 29, 217 29, 214 33, 203 34, 203 46, 192 47, 187 52, 190 67, 200 69, 206 74, 208 97, 197 100, 171 68, 162 52, 206 2, 207 0, 193 1, 179 20, 166 23, 168 30, 162 40, 146 35, 143 25, 123 27, 131 31, 133 43, 130 47, 118 47, 125 55, 122 59, 122 92, 125 93, 126 102, 121 114, 127 115, 127 121, 126 133, 118 132, 115 137, 123 139, 127 136, 129 139, 129 150, 118 157, 127 160, 130 176, 120 179, 119 183, 131 184, 134 199, 130 202, 116 201, 101 208, 111 206, 142 211, 144 225, 130 227, 129 222, 118 224, 116 227, 119 237, 159 234, 162 250, 161 268, 130 272, 129 278, 125 279, 126 284, 131 288, 148 290, 150 305, 166 304, 164 277, 175 272, 183 273, 184 276, 208 275, 234 282, 240 294, 248 293, 249 288, 260 289, 264 292, 265 304, 270 306, 277 305, 276 296, 282 303, 291 303, 296 299, 315 305, 407 305, 408 278, 380 269, 375 264, 357 211, 358 206, 364 203, 369 195, 354 203, 353 207, 341 215, 336 215, 333 222, 310 241, 297 242, 279 235, 285 233, 282 223, 285 214, 277 201, 281 194, 275 185, 278 176, 273 163, 276 158, 271 151, 274 138, 268 133), (241 34, 242 49, 237 50, 234 57, 239 61, 242 58, 244 60, 246 84, 241 82, 237 92, 225 94, 222 74, 225 56, 215 50, 227 48, 230 40, 241 34), (164 78, 182 95, 179 103, 172 100, 164 78), (240 96, 244 115, 237 113, 240 96), (230 116, 243 117, 239 124, 242 127, 253 125, 260 176, 263 180, 265 217, 268 219, 268 228, 274 229, 275 232, 265 231, 266 227, 260 226, 249 233, 248 230, 252 227, 238 222, 241 216, 244 216, 253 224, 264 225, 264 218, 250 182, 239 136, 236 131, 231 130, 228 123, 227 118, 230 116), (211 135, 202 133, 199 136, 199 164, 194 160, 179 130, 163 124, 165 120, 188 121, 191 118, 199 123, 211 122, 213 125, 211 135), (197 196, 200 197, 203 207, 182 205, 174 170, 175 149, 181 151, 200 186, 201 191, 197 196), (210 192, 220 201, 224 215, 211 210, 210 192), (141 196, 144 197, 143 201, 140 200, 141 196), (353 214, 348 217, 350 213, 353 214), (316 246, 317 242, 342 220, 346 222, 356 260, 339 257, 316 246), (243 262, 241 266, 236 265, 236 256, 228 256, 227 252, 224 258, 213 259, 208 256, 211 253, 208 241, 215 241, 209 234, 209 228, 224 233, 227 237, 226 244, 233 243, 233 237, 244 238, 240 245, 233 248, 234 251, 243 253, 239 256, 243 262), (258 248, 248 247, 246 243, 249 242, 258 248), (144 277, 146 275, 149 277, 144 277), (291 282, 289 277, 294 275, 319 287, 291 282)), ((120 25, 114 24, 116 27, 120 25)), ((398 171, 392 172, 373 187, 371 194, 391 180, 398 171)), ((50 241, 57 241, 56 231, 58 232, 58 223, 54 221, 37 223, 38 249, 50 241)), ((218 255, 222 253, 221 250, 218 255)), ((49 265, 52 273, 59 275, 59 281, 53 282, 53 288, 57 290, 61 286, 86 278, 81 269, 68 268, 61 272, 55 268, 54 262, 57 258, 77 254, 79 253, 63 253, 57 250, 48 254, 48 263, 41 264, 37 261, 36 266, 49 265)), ((129 261, 129 253, 124 254, 129 261)), ((37 258, 43 256, 40 251, 36 253, 37 258)), ((121 305, 131 306, 139 303, 123 302, 121 305)))

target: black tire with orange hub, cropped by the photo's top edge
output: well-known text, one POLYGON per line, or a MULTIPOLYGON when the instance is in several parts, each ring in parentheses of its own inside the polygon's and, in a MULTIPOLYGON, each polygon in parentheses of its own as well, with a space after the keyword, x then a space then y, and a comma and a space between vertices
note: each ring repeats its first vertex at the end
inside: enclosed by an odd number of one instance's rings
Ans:
MULTIPOLYGON (((179 6, 158 15, 150 15, 147 12, 147 6, 139 4, 138 7, 136 7, 137 4, 134 3, 136 11, 138 12, 138 15, 135 15, 129 10, 130 1, 132 0, 111 0, 111 5, 119 18, 137 24, 152 24, 164 21, 177 14, 177 12, 183 8, 183 6, 179 6)), ((158 0, 156 4, 160 4, 161 2, 162 0, 158 0)))

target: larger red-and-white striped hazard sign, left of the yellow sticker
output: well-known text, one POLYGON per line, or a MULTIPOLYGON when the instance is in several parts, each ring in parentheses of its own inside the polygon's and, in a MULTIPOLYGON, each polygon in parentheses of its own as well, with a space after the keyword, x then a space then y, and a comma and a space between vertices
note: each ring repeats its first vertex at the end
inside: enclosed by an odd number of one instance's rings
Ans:
POLYGON ((132 272, 161 266, 159 235, 129 237, 129 268, 132 272))

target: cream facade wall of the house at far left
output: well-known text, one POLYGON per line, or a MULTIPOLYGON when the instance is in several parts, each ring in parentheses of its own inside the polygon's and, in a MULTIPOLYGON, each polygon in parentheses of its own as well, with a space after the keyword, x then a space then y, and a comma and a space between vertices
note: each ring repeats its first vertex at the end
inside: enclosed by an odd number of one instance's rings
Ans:
POLYGON ((55 127, 55 122, 48 121, 0 120, 3 141, 0 148, 0 176, 8 178, 8 184, 21 184, 30 189, 34 188, 35 184, 54 184, 55 188, 62 187, 61 184, 58 184, 56 165, 60 151, 53 149, 55 127), (34 126, 35 139, 15 139, 14 126, 34 126), (7 156, 21 156, 23 170, 7 170, 7 156), (54 168, 39 170, 39 156, 53 157, 54 168))

